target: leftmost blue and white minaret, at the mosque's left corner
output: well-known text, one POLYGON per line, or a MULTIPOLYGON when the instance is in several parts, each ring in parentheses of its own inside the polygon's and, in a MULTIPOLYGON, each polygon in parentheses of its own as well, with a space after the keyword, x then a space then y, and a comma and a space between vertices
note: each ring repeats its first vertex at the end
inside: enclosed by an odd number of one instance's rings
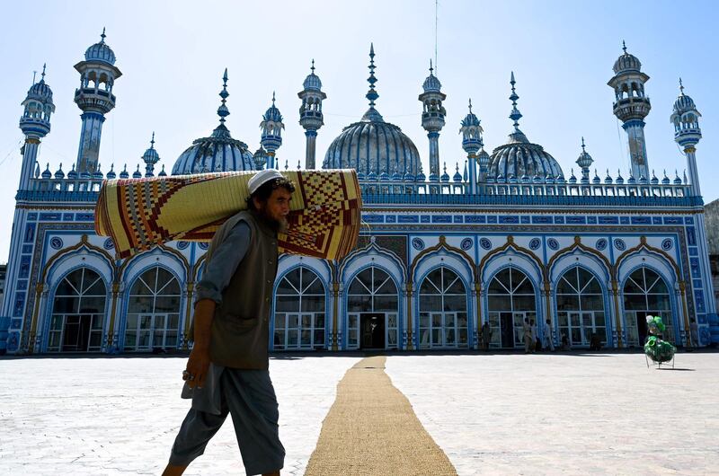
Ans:
POLYGON ((40 82, 35 83, 33 77, 32 83, 25 101, 21 103, 25 110, 20 118, 20 129, 25 135, 25 144, 22 145, 22 168, 18 190, 30 190, 32 172, 38 160, 40 139, 49 134, 50 115, 55 112, 52 90, 48 84, 45 84, 45 65, 42 65, 40 82))

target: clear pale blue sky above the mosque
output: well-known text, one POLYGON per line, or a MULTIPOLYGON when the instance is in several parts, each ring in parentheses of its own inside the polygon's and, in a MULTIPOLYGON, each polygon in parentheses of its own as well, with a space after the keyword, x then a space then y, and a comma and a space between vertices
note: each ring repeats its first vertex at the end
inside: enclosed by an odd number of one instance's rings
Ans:
MULTIPOLYGON (((80 110, 73 102, 79 75, 73 68, 100 40, 117 55, 123 75, 115 83, 117 107, 102 130, 100 162, 133 171, 156 133, 155 148, 169 172, 192 140, 217 125, 221 76, 227 67, 231 115, 227 127, 251 151, 259 146, 259 123, 277 93, 286 125, 281 163, 304 163, 305 137, 297 123, 297 92, 315 58, 323 82, 324 127, 317 161, 344 126, 367 110, 368 49, 374 42, 377 110, 413 139, 429 170, 429 145, 417 101, 435 51, 434 0, 217 2, 126 0, 123 2, 11 2, 2 4, 0 25, 0 262, 7 260, 22 156, 20 102, 32 72, 47 62, 54 93, 52 131, 40 147, 44 170, 67 172, 75 163, 80 110)), ((669 117, 679 93, 703 114, 697 146, 706 202, 719 198, 719 6, 714 1, 669 0, 441 0, 437 75, 447 94, 447 125, 439 137, 440 162, 448 172, 464 163, 459 121, 472 98, 482 120, 485 149, 502 145, 510 132, 510 71, 514 71, 520 128, 554 155, 568 176, 581 152, 581 136, 594 166, 628 175, 626 133, 612 115, 612 66, 628 51, 651 76, 646 92, 648 161, 661 178, 686 167, 673 140, 669 117)))

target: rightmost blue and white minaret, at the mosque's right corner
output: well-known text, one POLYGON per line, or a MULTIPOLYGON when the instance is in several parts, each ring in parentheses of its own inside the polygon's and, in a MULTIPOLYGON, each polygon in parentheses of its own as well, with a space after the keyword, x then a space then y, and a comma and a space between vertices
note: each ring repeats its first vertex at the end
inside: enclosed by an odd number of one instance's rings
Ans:
POLYGON ((679 78, 679 97, 674 101, 670 121, 674 124, 674 140, 687 155, 687 170, 689 172, 689 185, 691 194, 695 197, 701 196, 699 189, 699 172, 697 171, 697 148, 699 139, 702 138, 702 129, 699 128, 699 114, 697 106, 687 94, 684 93, 684 84, 679 78))

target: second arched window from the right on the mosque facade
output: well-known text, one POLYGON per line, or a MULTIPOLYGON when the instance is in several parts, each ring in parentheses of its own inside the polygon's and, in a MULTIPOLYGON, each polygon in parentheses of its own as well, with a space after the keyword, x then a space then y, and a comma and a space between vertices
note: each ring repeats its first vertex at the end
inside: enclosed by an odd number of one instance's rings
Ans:
POLYGON ((576 266, 567 270, 556 284, 559 341, 567 336, 571 346, 589 346, 593 334, 607 343, 604 297, 597 278, 576 266))

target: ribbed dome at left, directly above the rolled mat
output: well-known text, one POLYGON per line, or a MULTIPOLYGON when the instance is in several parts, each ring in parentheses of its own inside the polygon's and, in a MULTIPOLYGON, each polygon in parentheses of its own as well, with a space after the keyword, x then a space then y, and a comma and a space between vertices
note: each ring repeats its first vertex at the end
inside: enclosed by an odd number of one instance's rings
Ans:
POLYGON ((253 170, 253 154, 247 145, 230 137, 227 128, 220 125, 210 137, 195 140, 180 154, 174 163, 173 175, 253 170))

